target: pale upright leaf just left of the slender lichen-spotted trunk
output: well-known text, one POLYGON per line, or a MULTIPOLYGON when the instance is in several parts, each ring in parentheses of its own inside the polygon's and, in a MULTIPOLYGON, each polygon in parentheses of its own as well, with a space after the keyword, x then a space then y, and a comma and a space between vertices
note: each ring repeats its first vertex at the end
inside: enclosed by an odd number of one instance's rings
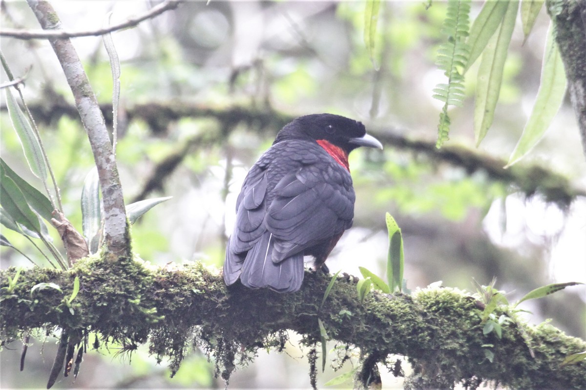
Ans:
POLYGON ((90 254, 98 251, 100 225, 100 179, 98 170, 94 167, 88 172, 81 189, 81 229, 90 254))

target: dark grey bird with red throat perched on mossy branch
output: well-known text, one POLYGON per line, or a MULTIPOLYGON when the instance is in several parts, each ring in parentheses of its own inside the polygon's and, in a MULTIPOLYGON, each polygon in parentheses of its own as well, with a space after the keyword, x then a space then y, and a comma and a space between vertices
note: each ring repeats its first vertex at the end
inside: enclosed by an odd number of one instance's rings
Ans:
POLYGON ((352 226, 356 195, 348 164, 360 146, 383 149, 361 122, 331 113, 300 116, 250 168, 236 200, 223 278, 248 288, 295 292, 304 256, 326 258, 352 226))

